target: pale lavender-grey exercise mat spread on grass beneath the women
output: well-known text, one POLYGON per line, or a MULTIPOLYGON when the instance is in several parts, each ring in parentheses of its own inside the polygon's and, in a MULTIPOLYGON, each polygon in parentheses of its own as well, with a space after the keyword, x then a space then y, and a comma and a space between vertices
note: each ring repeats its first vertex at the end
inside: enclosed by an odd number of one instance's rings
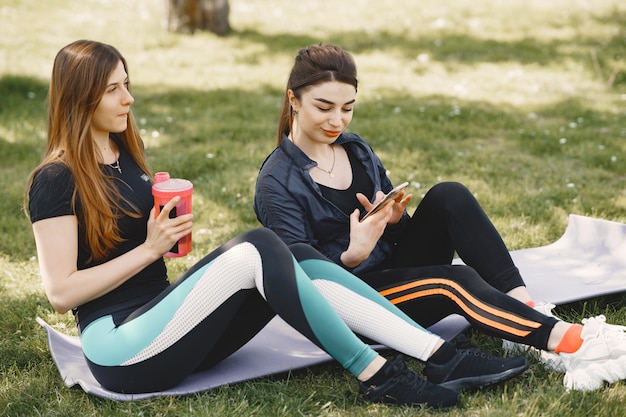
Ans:
MULTIPOLYGON (((512 251, 511 256, 537 301, 562 304, 626 290, 625 224, 570 215, 559 240, 547 246, 512 251)), ((68 387, 79 386, 89 394, 121 401, 207 391, 332 360, 283 320, 275 318, 239 351, 215 367, 189 376, 177 387, 120 394, 106 390, 93 378, 78 337, 55 330, 39 317, 37 321, 46 330, 52 358, 68 387)), ((449 340, 467 326, 464 318, 452 315, 430 330, 449 340)))

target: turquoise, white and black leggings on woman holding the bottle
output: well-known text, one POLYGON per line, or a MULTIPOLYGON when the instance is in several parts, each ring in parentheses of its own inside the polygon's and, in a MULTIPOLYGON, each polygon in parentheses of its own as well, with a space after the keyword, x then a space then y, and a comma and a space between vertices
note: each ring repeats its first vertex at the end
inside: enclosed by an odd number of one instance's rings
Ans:
POLYGON ((110 313, 92 321, 81 343, 105 388, 159 391, 226 358, 276 314, 355 376, 377 355, 355 332, 422 359, 439 340, 310 247, 288 248, 257 229, 211 252, 121 324, 110 313), (388 320, 412 336, 394 335, 388 320))

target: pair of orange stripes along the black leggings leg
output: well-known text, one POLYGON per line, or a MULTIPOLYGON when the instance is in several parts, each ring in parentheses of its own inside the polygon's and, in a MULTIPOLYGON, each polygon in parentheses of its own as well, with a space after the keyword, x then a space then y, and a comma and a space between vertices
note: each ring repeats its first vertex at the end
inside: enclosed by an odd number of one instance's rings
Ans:
MULTIPOLYGON (((484 304, 483 302, 481 302, 480 300, 476 299, 474 296, 472 296, 471 294, 469 294, 467 291, 465 291, 465 289, 463 287, 461 287, 458 283, 448 280, 448 279, 437 279, 437 278, 431 278, 431 279, 425 279, 425 280, 420 280, 418 282, 412 282, 410 284, 405 284, 405 285, 400 285, 398 287, 393 287, 384 291, 380 291, 380 294, 383 296, 388 296, 388 295, 393 295, 402 291, 407 291, 410 289, 415 289, 416 287, 420 287, 420 286, 425 286, 425 285, 431 285, 431 284, 443 284, 443 285, 447 285, 450 286, 452 288, 454 288, 456 291, 458 291, 460 294, 462 294, 467 300, 470 301, 470 303, 472 303, 474 306, 478 307, 479 309, 486 311, 490 314, 493 314, 496 317, 501 317, 505 320, 509 320, 513 323, 522 325, 522 326, 526 326, 526 327, 530 327, 532 329, 536 329, 541 327, 541 323, 537 323, 535 321, 531 321, 531 320, 526 320, 523 319, 521 317, 515 316, 513 314, 501 311, 501 310, 497 310, 489 305, 484 304)), ((519 330, 516 329, 514 327, 511 326, 507 326, 505 324, 502 323, 498 323, 496 321, 493 321, 491 319, 487 319, 486 317, 483 317, 477 313, 475 313, 472 309, 470 309, 458 296, 456 296, 452 291, 450 290, 446 290, 444 288, 435 288, 435 289, 430 289, 430 290, 422 290, 422 291, 418 291, 418 292, 414 292, 411 294, 407 294, 407 295, 403 295, 400 297, 396 297, 393 299, 390 299, 391 303, 393 304, 400 304, 404 301, 408 301, 408 300, 413 300, 416 298, 421 298, 421 297, 427 297, 427 296, 431 296, 431 295, 444 295, 448 298, 450 298, 451 300, 453 300, 454 302, 456 302, 462 309, 463 311, 465 311, 468 315, 470 315, 471 317, 473 317, 476 321, 484 323, 490 327, 505 331, 507 333, 511 333, 511 334, 515 334, 517 336, 527 336, 530 331, 525 331, 525 330, 519 330)))

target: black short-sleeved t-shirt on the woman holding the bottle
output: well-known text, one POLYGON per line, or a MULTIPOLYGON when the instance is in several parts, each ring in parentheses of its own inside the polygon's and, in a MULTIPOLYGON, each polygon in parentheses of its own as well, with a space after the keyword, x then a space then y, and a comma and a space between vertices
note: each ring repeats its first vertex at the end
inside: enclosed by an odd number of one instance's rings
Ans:
MULTIPOLYGON (((87 269, 114 259, 142 244, 146 239, 147 221, 154 205, 150 178, 135 164, 130 154, 117 137, 113 139, 120 149, 119 163, 122 172, 108 165, 102 165, 102 172, 115 178, 114 182, 121 196, 129 201, 141 217, 122 216, 118 219, 122 242, 105 258, 95 261, 86 244, 84 225, 79 217, 77 268, 87 269)), ((61 163, 48 164, 36 173, 29 191, 29 212, 31 222, 58 216, 75 215, 72 206, 74 177, 67 166, 61 163)), ((80 211, 80 201, 76 208, 80 211)), ((128 207, 125 207, 128 208, 128 207)), ((59 248, 63 250, 63 248, 59 248)), ((119 324, 137 307, 153 299, 169 285, 167 270, 162 258, 148 265, 141 272, 127 280, 118 288, 73 310, 81 329, 103 315, 112 314, 119 324)))

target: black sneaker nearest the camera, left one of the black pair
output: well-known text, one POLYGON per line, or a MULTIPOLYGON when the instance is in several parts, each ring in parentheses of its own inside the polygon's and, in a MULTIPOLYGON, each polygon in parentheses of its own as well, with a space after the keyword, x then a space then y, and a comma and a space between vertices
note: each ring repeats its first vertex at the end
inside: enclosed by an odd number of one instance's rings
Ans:
POLYGON ((404 363, 398 355, 390 363, 381 385, 367 385, 359 381, 359 391, 365 398, 375 403, 449 408, 459 403, 459 393, 423 380, 404 363))

